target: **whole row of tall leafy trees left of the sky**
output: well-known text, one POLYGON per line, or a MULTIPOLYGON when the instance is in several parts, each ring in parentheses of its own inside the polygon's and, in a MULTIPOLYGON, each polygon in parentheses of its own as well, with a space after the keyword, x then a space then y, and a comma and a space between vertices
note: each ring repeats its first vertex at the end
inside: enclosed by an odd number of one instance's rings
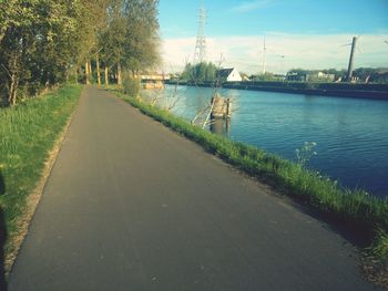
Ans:
POLYGON ((75 81, 122 83, 159 62, 157 0, 0 1, 0 103, 75 81))

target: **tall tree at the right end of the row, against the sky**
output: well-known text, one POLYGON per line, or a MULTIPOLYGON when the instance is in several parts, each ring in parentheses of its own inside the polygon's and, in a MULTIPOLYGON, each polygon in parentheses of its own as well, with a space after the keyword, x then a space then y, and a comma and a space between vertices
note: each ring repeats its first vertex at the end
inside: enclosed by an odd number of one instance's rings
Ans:
POLYGON ((108 66, 116 69, 118 83, 122 70, 136 75, 160 62, 157 2, 155 0, 115 1, 108 10, 108 28, 101 46, 108 66))

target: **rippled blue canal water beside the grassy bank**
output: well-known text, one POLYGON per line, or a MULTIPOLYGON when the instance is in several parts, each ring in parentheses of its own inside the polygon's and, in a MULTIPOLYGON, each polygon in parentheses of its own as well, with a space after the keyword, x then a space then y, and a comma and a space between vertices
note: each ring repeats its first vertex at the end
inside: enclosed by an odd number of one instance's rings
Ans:
MULTIPOLYGON (((167 85, 152 94, 165 96, 160 106, 177 101, 172 112, 188 121, 214 93, 192 86, 174 91, 167 85)), ((216 133, 290 160, 296 160, 295 149, 305 142, 315 142, 317 155, 308 168, 345 187, 388 197, 388 101, 244 90, 219 93, 232 100, 233 112, 229 124, 212 126, 216 133)))

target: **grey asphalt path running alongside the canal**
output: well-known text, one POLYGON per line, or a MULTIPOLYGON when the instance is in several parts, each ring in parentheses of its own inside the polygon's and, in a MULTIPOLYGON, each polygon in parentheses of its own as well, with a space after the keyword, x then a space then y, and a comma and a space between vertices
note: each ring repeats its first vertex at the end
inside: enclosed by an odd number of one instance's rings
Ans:
POLYGON ((88 87, 9 290, 376 289, 327 225, 88 87))

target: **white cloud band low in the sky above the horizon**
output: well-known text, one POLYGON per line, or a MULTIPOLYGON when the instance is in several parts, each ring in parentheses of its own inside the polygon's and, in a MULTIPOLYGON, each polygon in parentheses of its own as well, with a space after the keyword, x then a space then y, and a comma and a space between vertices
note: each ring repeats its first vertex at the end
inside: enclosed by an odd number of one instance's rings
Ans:
MULTIPOLYGON (((293 67, 346 69, 353 34, 306 35, 267 33, 266 71, 284 73, 293 67)), ((355 65, 388 67, 387 34, 361 35, 355 56, 355 65)), ((263 37, 207 38, 207 61, 218 62, 223 55, 223 66, 236 66, 239 71, 257 73, 263 64, 263 37)), ((185 60, 192 61, 195 38, 166 39, 163 42, 165 71, 181 71, 185 60)))

